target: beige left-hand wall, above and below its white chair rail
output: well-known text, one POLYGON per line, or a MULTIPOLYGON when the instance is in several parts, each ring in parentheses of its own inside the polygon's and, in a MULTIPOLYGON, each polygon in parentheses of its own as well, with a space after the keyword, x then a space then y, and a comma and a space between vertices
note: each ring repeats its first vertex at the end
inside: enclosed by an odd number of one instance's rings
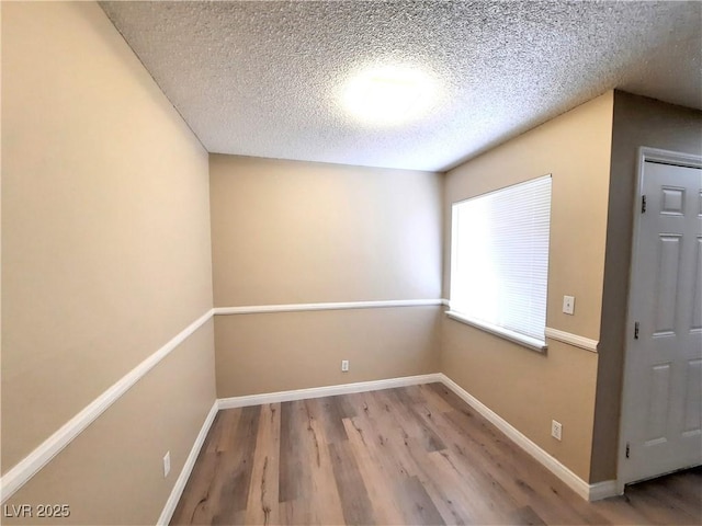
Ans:
MULTIPOLYGON (((97 3, 2 3, 3 473, 212 307, 207 169, 97 3)), ((214 400, 200 332, 19 495, 70 498, 95 524, 99 491, 124 510, 154 499, 124 512, 154 521, 174 480, 161 457, 177 451, 177 473, 214 400), (128 491, 103 461, 135 468, 128 491)))

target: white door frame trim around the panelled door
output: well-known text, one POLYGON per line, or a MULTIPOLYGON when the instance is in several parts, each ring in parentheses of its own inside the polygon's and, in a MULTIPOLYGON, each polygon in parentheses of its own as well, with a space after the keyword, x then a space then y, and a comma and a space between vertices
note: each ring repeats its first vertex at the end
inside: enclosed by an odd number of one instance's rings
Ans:
MULTIPOLYGON (((626 481, 626 438, 630 435, 629 430, 632 427, 631 422, 631 405, 635 403, 632 400, 632 385, 633 378, 631 374, 631 361, 633 356, 633 343, 634 343, 634 322, 633 319, 633 299, 634 287, 636 286, 634 277, 636 275, 636 254, 638 252, 638 235, 641 230, 641 205, 644 185, 644 170, 646 162, 659 162, 663 164, 672 164, 676 167, 686 168, 699 168, 702 169, 702 157, 691 153, 682 153, 678 151, 661 150, 658 148, 650 148, 642 146, 637 151, 636 160, 636 184, 634 188, 634 206, 633 206, 633 230, 632 230, 632 252, 631 264, 629 268, 629 297, 626 300, 626 338, 624 342, 624 366, 622 374, 622 405, 620 413, 620 427, 619 427, 619 453, 616 455, 618 469, 616 469, 616 490, 618 493, 624 492, 624 485, 630 481, 626 481)), ((660 473, 663 474, 663 473, 660 473)))

